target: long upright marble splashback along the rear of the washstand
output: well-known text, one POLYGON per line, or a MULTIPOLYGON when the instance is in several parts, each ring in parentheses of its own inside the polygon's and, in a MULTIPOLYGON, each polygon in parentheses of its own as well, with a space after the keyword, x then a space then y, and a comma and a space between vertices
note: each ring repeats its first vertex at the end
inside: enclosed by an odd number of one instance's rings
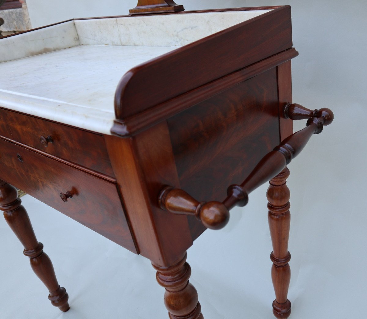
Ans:
POLYGON ((75 20, 80 44, 184 46, 271 10, 75 20))

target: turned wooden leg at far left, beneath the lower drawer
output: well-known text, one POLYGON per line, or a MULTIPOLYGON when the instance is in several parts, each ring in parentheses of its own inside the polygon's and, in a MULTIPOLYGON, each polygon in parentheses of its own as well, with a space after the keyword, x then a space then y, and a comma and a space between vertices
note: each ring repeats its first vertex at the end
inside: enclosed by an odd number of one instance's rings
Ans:
POLYGON ((43 252, 43 244, 37 241, 28 214, 21 203, 17 190, 0 180, 0 209, 4 211, 8 225, 23 244, 24 254, 29 257, 34 273, 50 292, 48 299, 51 304, 61 311, 68 311, 69 296, 65 288, 59 286, 51 260, 43 252))

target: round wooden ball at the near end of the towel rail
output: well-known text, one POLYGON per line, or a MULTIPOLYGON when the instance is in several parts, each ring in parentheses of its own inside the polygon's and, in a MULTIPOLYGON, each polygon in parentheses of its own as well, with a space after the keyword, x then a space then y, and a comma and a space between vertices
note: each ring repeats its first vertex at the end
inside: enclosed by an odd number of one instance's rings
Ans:
POLYGON ((221 202, 207 202, 199 210, 199 219, 210 229, 221 229, 229 221, 229 211, 221 202))

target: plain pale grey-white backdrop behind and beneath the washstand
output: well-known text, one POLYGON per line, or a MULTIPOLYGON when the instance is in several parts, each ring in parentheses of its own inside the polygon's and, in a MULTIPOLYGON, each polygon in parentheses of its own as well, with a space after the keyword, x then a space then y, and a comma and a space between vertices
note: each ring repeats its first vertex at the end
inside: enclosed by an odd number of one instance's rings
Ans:
MULTIPOLYGON (((34 27, 73 17, 127 14, 136 2, 27 1, 34 27)), ((292 6, 294 47, 299 51, 292 60, 293 101, 309 108, 329 107, 335 120, 289 166, 291 318, 365 318, 366 1, 186 0, 179 4, 186 10, 292 6)), ((295 129, 304 125, 297 123, 295 129)), ((188 251, 191 281, 207 319, 273 318, 266 188, 252 193, 247 207, 234 210, 225 229, 207 231, 188 251)), ((0 288, 3 318, 166 318, 163 291, 155 283, 149 261, 62 214, 49 214, 29 196, 24 201, 59 281, 69 291, 72 310, 59 314, 48 305, 44 287, 3 222, 0 271, 8 280, 3 279, 0 288), (22 300, 20 306, 16 296, 22 300)))

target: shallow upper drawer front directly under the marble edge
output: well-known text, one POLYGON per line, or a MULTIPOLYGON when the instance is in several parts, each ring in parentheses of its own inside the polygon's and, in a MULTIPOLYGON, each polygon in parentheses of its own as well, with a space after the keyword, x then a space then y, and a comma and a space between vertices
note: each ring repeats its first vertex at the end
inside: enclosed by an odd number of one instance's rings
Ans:
POLYGON ((0 135, 114 177, 102 135, 3 108, 0 108, 0 135), (51 136, 53 143, 47 142, 45 147, 41 136, 51 136))

